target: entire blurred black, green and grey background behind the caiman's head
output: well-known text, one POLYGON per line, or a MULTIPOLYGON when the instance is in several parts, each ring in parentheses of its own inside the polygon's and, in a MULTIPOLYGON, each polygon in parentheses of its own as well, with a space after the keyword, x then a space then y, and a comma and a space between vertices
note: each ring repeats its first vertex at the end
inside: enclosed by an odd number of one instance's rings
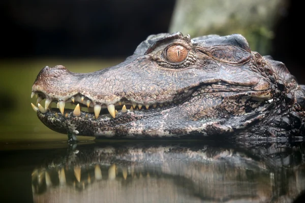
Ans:
POLYGON ((92 72, 123 61, 151 34, 241 33, 253 51, 286 64, 305 84, 302 7, 296 0, 2 0, 0 140, 66 139, 31 108, 42 67, 92 72))

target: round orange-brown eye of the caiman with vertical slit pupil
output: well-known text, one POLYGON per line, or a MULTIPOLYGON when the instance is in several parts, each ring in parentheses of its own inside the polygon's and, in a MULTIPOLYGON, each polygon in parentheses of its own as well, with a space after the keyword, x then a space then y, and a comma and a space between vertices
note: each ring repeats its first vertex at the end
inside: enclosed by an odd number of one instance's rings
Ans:
POLYGON ((184 46, 173 45, 166 50, 166 57, 169 62, 179 63, 187 58, 188 53, 189 51, 184 46))

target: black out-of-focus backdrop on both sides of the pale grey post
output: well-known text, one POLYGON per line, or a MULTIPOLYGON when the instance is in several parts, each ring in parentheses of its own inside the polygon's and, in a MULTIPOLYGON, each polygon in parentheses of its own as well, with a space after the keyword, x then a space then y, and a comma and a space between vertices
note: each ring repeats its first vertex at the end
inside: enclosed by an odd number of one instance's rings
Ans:
MULTIPOLYGON (((0 4, 0 59, 111 58, 127 57, 148 35, 168 32, 175 1, 2 0, 0 4)), ((303 7, 292 0, 284 13, 275 27, 270 55, 305 83, 303 7)))

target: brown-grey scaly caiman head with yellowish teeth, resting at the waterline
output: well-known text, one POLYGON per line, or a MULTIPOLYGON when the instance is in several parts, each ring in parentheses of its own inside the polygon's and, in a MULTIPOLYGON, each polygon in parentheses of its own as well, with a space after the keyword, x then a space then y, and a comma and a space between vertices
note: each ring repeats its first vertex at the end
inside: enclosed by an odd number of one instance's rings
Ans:
POLYGON ((44 67, 35 94, 38 118, 68 134, 198 138, 244 131, 239 138, 260 138, 304 128, 304 93, 295 78, 283 63, 252 52, 241 35, 152 35, 124 62, 94 73, 44 67))

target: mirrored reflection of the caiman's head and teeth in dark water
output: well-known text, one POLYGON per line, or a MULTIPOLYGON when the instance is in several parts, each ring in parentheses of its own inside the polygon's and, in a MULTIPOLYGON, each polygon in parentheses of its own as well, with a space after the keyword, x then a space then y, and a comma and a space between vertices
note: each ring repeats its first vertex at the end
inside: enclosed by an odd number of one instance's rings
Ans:
POLYGON ((73 146, 32 174, 35 202, 292 202, 305 190, 304 143, 73 146))

